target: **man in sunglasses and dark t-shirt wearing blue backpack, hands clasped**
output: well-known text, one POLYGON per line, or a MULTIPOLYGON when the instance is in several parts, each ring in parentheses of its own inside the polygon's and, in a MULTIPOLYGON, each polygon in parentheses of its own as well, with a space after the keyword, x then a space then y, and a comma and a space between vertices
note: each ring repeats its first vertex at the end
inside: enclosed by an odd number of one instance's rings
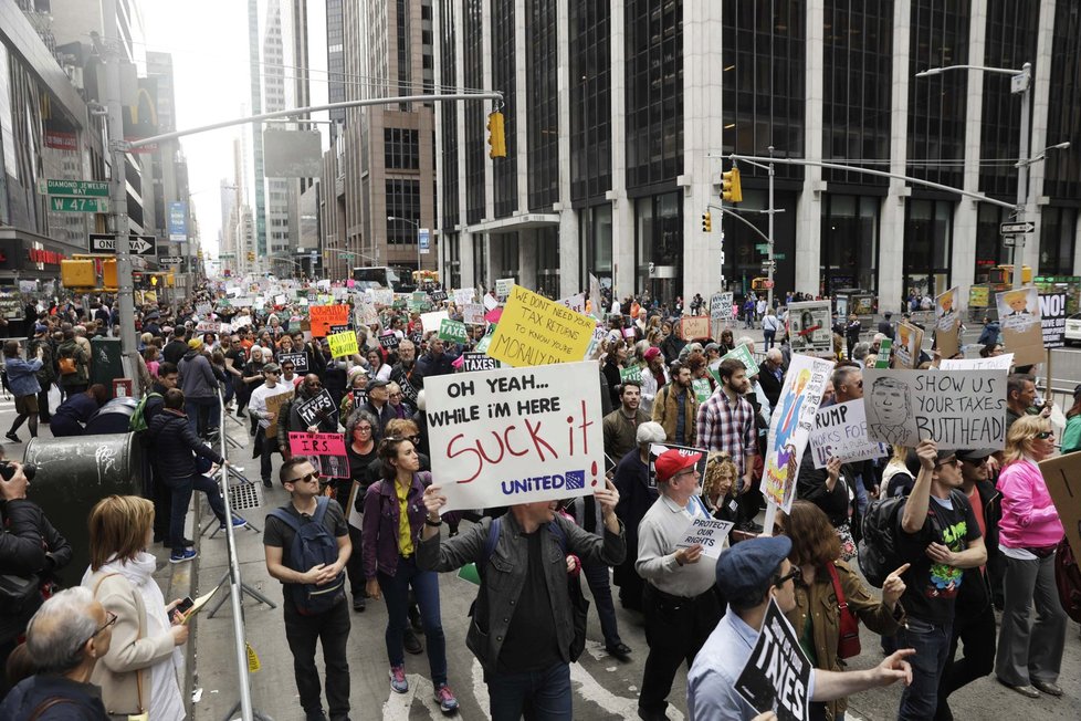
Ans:
POLYGON ((296 690, 306 721, 326 719, 315 641, 323 646, 330 721, 349 718, 349 604, 345 564, 353 553, 342 506, 319 495, 319 474, 303 456, 279 471, 290 502, 266 516, 266 571, 282 582, 285 638, 293 654, 296 690))

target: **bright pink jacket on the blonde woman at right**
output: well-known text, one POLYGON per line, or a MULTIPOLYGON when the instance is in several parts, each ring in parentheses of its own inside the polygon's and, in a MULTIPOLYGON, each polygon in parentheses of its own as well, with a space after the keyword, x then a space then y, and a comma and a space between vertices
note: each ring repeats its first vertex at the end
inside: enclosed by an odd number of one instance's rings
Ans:
POLYGON ((998 490, 1003 494, 1003 519, 998 522, 1001 545, 1038 548, 1062 540, 1059 512, 1035 464, 1027 460, 1007 463, 998 477, 998 490))

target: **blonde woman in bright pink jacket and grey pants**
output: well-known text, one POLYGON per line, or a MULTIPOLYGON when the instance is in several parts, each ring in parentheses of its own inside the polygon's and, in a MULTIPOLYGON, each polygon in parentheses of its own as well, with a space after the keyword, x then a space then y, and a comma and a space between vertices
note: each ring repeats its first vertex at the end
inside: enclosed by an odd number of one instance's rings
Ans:
POLYGON ((1062 696, 1056 683, 1066 642, 1066 612, 1054 586, 1054 546, 1062 523, 1037 466, 1054 451, 1050 422, 1025 416, 1006 433, 1006 466, 998 478, 1003 519, 998 545, 1006 557, 1006 606, 995 675, 1028 698, 1062 696), (1037 618, 1029 612, 1036 600, 1037 618))

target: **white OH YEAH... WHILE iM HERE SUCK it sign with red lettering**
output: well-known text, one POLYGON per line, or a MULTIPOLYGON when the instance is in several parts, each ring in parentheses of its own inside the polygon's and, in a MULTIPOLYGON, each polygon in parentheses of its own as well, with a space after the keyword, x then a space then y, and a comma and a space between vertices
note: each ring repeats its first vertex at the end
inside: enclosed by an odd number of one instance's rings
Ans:
POLYGON ((447 497, 444 511, 605 488, 596 363, 430 376, 424 390, 432 472, 447 497))

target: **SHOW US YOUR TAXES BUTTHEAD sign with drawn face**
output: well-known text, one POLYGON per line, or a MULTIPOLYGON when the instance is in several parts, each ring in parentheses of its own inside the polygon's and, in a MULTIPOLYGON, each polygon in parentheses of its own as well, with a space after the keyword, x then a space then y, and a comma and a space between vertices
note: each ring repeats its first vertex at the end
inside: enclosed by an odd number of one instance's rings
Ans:
POLYGON ((931 438, 938 450, 998 450, 1006 441, 1006 372, 868 368, 863 408, 872 440, 915 447, 931 438))

